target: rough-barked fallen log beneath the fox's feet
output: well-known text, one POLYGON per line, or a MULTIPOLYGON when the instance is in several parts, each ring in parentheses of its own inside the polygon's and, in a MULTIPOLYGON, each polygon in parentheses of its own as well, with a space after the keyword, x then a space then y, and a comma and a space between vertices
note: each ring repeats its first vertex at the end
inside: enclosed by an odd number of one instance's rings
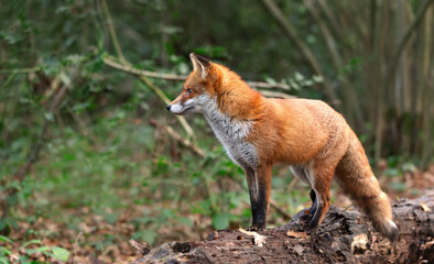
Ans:
POLYGON ((142 263, 434 263, 434 191, 393 204, 400 238, 390 243, 356 210, 330 207, 317 233, 290 222, 258 232, 263 246, 238 230, 215 231, 208 241, 169 242, 142 263))

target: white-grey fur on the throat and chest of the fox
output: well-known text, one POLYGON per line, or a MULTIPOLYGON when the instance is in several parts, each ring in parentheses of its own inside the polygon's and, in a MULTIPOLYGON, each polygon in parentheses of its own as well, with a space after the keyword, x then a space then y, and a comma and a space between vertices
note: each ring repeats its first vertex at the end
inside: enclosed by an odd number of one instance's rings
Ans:
POLYGON ((217 139, 225 146, 230 160, 241 167, 258 167, 257 150, 245 140, 252 127, 251 121, 238 121, 221 113, 215 98, 209 98, 209 102, 204 109, 204 116, 217 139))

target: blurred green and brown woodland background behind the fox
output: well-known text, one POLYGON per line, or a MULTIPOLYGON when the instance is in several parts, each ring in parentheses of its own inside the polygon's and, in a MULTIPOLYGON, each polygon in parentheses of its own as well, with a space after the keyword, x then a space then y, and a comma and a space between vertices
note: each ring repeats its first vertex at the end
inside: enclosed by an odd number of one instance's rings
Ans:
MULTIPOLYGON (((322 99, 392 200, 434 186, 433 0, 0 1, 0 262, 122 263, 250 224, 242 170, 175 117, 195 52, 269 97, 322 99)), ((310 206, 273 170, 269 227, 310 206)), ((350 202, 333 186, 333 202, 350 202)))

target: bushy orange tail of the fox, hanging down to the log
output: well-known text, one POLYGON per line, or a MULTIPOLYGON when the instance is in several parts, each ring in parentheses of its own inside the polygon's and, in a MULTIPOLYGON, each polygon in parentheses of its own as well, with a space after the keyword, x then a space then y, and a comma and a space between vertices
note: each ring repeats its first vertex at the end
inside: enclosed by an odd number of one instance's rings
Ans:
POLYGON ((370 218, 372 226, 394 241, 399 231, 392 221, 389 197, 380 189, 359 140, 352 135, 346 154, 336 167, 337 182, 352 202, 370 218))

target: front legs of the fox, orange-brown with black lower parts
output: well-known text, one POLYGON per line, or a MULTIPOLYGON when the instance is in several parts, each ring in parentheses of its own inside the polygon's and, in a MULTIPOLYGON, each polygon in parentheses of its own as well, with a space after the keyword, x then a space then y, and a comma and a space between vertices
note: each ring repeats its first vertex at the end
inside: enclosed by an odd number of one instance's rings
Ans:
POLYGON ((271 193, 271 166, 245 169, 249 186, 252 226, 249 230, 267 228, 267 211, 271 193))

